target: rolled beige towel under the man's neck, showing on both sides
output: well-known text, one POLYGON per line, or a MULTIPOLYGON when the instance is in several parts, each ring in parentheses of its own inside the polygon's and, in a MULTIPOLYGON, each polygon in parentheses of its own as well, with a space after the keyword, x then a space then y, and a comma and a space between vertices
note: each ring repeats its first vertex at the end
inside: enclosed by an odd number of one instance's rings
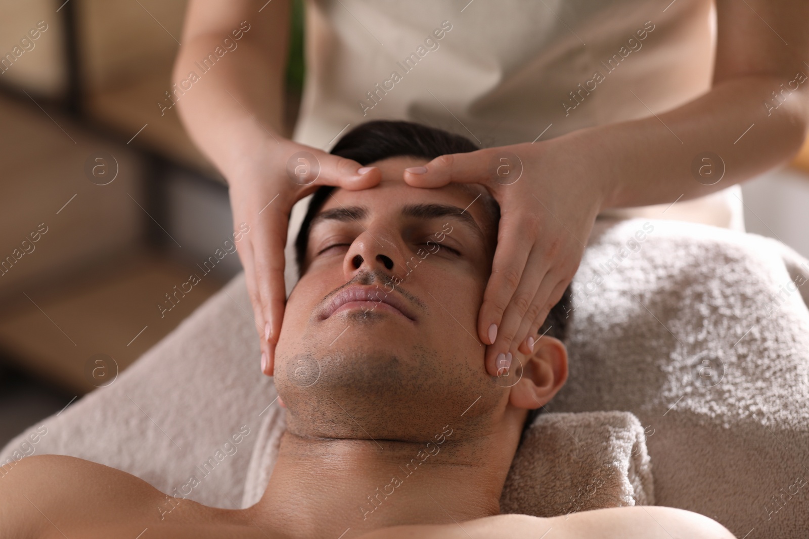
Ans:
MULTIPOLYGON (((285 416, 273 408, 256 433, 242 507, 258 502, 267 488, 285 416)), ((654 504, 641 423, 629 412, 584 412, 536 417, 515 454, 500 510, 557 516, 636 504, 654 504)))

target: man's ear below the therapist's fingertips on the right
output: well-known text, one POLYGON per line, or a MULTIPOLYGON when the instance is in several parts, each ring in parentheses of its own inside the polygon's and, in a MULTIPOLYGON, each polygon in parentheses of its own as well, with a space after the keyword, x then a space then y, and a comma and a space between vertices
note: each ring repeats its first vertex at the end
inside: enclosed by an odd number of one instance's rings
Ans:
POLYGON ((532 356, 523 361, 523 375, 511 387, 512 406, 533 410, 547 404, 567 380, 567 348, 561 340, 543 335, 532 356))

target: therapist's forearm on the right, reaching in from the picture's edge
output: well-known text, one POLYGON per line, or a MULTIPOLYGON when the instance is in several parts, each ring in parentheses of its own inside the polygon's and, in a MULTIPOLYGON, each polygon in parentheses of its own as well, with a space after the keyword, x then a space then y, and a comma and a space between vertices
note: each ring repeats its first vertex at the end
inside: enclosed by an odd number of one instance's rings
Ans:
MULTIPOLYGON (((768 116, 763 103, 778 103, 772 92, 781 82, 788 81, 728 80, 663 114, 584 128, 552 141, 567 139, 565 144, 581 149, 587 174, 604 187, 602 209, 705 196, 788 162, 798 152, 809 124, 809 81, 768 116), (701 183, 693 175, 693 162, 703 152, 724 162, 724 175, 714 185, 704 185, 709 176, 701 183)), ((714 174, 721 166, 714 163, 714 174)))

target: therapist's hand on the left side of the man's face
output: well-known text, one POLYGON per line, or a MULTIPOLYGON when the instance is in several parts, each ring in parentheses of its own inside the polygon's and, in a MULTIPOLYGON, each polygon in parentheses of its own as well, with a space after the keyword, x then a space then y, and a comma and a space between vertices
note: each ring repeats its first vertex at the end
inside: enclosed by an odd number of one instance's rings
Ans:
POLYGON ((292 206, 321 185, 356 190, 379 183, 376 167, 363 167, 307 145, 272 139, 228 175, 234 231, 261 343, 261 370, 273 375, 275 345, 286 305, 284 246, 292 206), (364 174, 360 174, 362 169, 364 174), (248 231, 244 232, 247 223, 248 231))

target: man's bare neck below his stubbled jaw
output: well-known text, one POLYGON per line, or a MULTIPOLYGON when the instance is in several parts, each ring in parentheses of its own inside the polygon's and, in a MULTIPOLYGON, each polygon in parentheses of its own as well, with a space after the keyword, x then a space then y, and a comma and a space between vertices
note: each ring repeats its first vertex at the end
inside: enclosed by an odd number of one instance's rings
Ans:
POLYGON ((451 426, 430 443, 306 438, 285 432, 256 524, 284 537, 341 537, 499 513, 513 447, 501 432, 468 440, 451 426), (497 444, 496 442, 500 443, 497 444))

